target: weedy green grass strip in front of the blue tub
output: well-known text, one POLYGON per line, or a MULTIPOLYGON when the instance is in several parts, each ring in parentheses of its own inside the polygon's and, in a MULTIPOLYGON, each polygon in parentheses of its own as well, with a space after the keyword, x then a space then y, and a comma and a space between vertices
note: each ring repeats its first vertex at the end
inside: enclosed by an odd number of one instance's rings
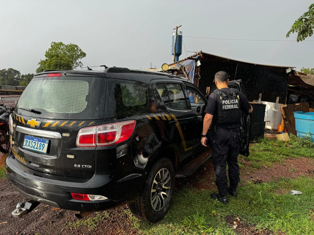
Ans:
MULTIPOLYGON (((270 138, 258 139, 258 143, 251 144, 250 156, 243 157, 240 155, 240 158, 249 160, 251 167, 260 169, 263 166, 272 167, 274 163, 280 163, 288 158, 313 158, 313 151, 314 144, 308 139, 290 135, 290 142, 288 143, 270 138)), ((245 166, 240 163, 240 167, 245 166)))

